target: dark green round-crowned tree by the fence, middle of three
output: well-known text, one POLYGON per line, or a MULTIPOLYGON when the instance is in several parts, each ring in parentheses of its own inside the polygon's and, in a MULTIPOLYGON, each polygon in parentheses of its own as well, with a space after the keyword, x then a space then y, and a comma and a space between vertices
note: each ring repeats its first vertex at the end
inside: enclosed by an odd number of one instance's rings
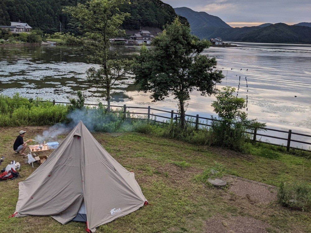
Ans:
POLYGON ((133 73, 139 90, 151 92, 154 102, 174 96, 178 100, 181 127, 185 128, 185 105, 194 90, 202 96, 215 92, 215 84, 224 75, 216 68, 216 59, 201 55, 209 48, 207 40, 190 34, 190 27, 178 18, 157 36, 151 48, 142 47, 136 56, 133 73))

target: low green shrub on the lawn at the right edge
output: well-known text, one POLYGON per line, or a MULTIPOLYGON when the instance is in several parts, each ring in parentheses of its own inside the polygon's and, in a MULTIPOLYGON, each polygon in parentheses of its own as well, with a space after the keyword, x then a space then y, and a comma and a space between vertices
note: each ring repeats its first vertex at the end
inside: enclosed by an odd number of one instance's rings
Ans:
POLYGON ((311 184, 309 182, 283 183, 277 198, 282 206, 311 212, 311 184))

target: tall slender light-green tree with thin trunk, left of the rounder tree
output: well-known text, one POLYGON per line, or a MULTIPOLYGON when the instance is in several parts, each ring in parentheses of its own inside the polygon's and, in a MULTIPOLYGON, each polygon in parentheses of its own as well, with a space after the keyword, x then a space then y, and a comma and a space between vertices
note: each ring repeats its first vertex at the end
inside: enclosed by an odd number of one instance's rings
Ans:
POLYGON ((88 80, 100 85, 106 90, 105 97, 110 111, 110 91, 116 80, 127 71, 129 61, 112 61, 109 54, 110 39, 121 33, 119 27, 128 13, 119 11, 119 6, 130 4, 128 0, 89 0, 86 4, 78 3, 77 7, 67 7, 64 12, 69 13, 78 23, 83 33, 81 44, 88 53, 87 60, 99 64, 100 68, 91 67, 88 80))

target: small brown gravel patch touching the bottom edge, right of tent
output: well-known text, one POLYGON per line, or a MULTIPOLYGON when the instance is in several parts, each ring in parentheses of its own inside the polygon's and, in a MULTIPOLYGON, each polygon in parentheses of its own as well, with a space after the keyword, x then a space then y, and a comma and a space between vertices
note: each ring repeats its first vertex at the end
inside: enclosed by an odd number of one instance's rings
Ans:
POLYGON ((268 223, 251 217, 214 216, 206 221, 204 233, 268 233, 268 227, 268 223))

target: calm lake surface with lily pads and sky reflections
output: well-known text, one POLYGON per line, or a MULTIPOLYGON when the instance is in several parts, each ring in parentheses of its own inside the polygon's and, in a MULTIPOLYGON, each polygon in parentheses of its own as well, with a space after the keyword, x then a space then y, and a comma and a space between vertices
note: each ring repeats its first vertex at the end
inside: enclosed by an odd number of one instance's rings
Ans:
MULTIPOLYGON (((203 52, 217 58, 217 68, 225 75, 217 87, 235 87, 238 97, 247 99, 245 111, 250 119, 258 118, 269 128, 311 135, 311 45, 236 44, 237 47, 211 47, 203 52)), ((137 51, 135 47, 111 49, 119 49, 123 57, 132 57, 137 51)), ((0 94, 13 96, 18 92, 26 98, 68 102, 69 97, 76 97, 77 90, 81 90, 86 103, 105 104, 103 89, 86 82, 86 70, 91 66, 94 65, 87 64, 84 55, 73 47, 1 47, 0 94)), ((149 95, 138 93, 133 83, 132 78, 118 82, 112 94, 113 105, 150 105, 177 111, 173 98, 152 103, 149 95)), ((215 97, 194 92, 186 114, 215 115, 213 100, 215 97)))

